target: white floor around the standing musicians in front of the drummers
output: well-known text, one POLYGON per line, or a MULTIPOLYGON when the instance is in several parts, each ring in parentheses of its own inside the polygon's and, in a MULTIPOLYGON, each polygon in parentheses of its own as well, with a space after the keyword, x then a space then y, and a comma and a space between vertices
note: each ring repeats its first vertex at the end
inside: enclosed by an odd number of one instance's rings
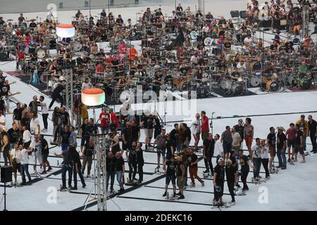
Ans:
MULTIPOLYGON (((4 71, 13 71, 15 63, 0 63, 0 69, 4 71)), ((7 75, 10 82, 16 81, 16 84, 11 85, 11 91, 21 91, 22 94, 15 96, 15 99, 30 103, 32 96, 39 96, 40 93, 32 86, 20 82, 16 77, 7 75)), ((225 129, 226 125, 234 125, 238 118, 250 116, 252 124, 254 124, 255 137, 266 138, 268 128, 283 126, 288 127, 290 122, 295 122, 299 119, 301 114, 306 116, 311 114, 317 118, 317 91, 302 91, 302 92, 284 92, 275 94, 261 94, 254 96, 232 97, 232 98, 209 98, 197 100, 197 106, 189 112, 190 118, 194 113, 206 110, 207 115, 216 112, 214 117, 219 117, 213 121, 213 133, 220 134, 225 129), (311 113, 309 113, 311 112, 311 113), (232 117, 238 115, 238 117, 232 117)), ((46 103, 51 99, 46 98, 46 103)), ((58 105, 58 104, 55 104, 58 105)), ((11 110, 13 110, 13 103, 11 103, 11 110)), ((164 113, 164 107, 156 105, 160 115, 164 113)), ((118 110, 118 107, 116 107, 118 110)), ((132 108, 145 108, 144 105, 132 105, 132 108), (143 106, 143 107, 142 107, 143 106)), ((97 110, 99 115, 99 110, 97 110)), ((92 116, 92 112, 89 112, 92 116)), ((51 115, 49 116, 51 118, 51 115)), ((168 125, 173 125, 174 120, 188 120, 187 117, 167 115, 166 121, 168 125)), ((42 127, 42 117, 39 117, 42 127)), ((6 124, 11 124, 11 115, 6 117, 6 124)), ((170 131, 172 127, 166 126, 170 131)), ((52 126, 49 124, 49 132, 51 135, 52 126)), ((49 140, 50 137, 48 136, 49 140)), ((78 140, 79 141, 79 140, 78 140)), ((141 141, 144 141, 144 134, 142 131, 141 141)), ((311 150, 310 140, 307 139, 307 150, 311 150)), ((245 148, 245 147, 244 147, 245 148)), ((54 169, 53 174, 37 179, 38 181, 32 186, 25 186, 21 188, 10 187, 7 188, 7 208, 8 210, 75 210, 82 209, 83 203, 87 198, 89 191, 93 187, 93 180, 87 180, 87 187, 78 189, 77 193, 57 192, 56 203, 51 203, 49 192, 50 188, 59 188, 61 184, 60 168, 57 167, 57 160, 52 155, 54 152, 60 152, 58 147, 51 148, 49 161, 54 169), (56 175, 54 175, 56 174, 56 175)), ((170 202, 165 200, 161 195, 163 194, 163 187, 165 178, 154 173, 156 167, 156 153, 144 153, 146 164, 144 165, 144 183, 145 185, 138 186, 132 191, 117 195, 108 201, 108 210, 211 210, 211 200, 213 198, 212 181, 206 180, 206 185, 201 187, 197 184, 196 188, 188 188, 185 191, 185 199, 177 202, 170 202), (116 204, 114 204, 116 203, 116 204), (118 205, 118 207, 117 207, 118 205)), ((277 158, 275 158, 277 161, 277 158)), ((213 160, 213 163, 214 160, 213 160)), ((260 186, 249 184, 249 191, 245 196, 237 196, 236 205, 224 210, 317 210, 317 156, 313 155, 306 158, 306 164, 287 165, 287 169, 280 171, 278 174, 271 174, 271 180, 260 186), (259 196, 262 189, 267 188, 268 202, 259 203, 259 196)), ((126 169, 128 165, 126 164, 126 169)), ((199 162, 199 176, 202 174, 204 162, 199 162)), ((30 168, 30 172, 33 169, 30 168)), ((263 172, 263 168, 261 169, 263 172)), ((249 174, 248 181, 251 180, 252 173, 249 174)), ((125 174, 128 177, 128 174, 125 174)), ((21 181, 20 176, 18 181, 21 181)), ((190 181, 188 181, 190 184, 190 181)), ((115 181, 115 184, 116 181, 115 181)), ((1 185, 3 186, 3 185, 1 185)), ((171 188, 172 186, 170 186, 171 188)), ((128 190, 128 186, 125 186, 128 190)), ((118 191, 118 185, 115 186, 118 191)), ((262 190, 263 191, 263 190, 262 190)), ((172 191, 170 190, 170 193, 172 191)), ((230 195, 226 195, 228 188, 225 184, 224 200, 230 201, 230 195)), ((88 210, 97 210, 94 202, 88 210)), ((3 203, 1 205, 3 208, 3 203)), ((213 209, 218 210, 218 209, 213 209)))

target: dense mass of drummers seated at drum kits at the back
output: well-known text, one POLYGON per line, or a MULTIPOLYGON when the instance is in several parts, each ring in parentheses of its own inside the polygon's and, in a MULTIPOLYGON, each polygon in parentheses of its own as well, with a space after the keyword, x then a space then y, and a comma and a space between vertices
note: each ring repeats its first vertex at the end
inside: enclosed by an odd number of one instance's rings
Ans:
POLYGON ((77 11, 71 39, 57 39, 58 18, 52 13, 44 22, 22 14, 18 23, 11 22, 0 18, 1 57, 15 46, 17 69, 51 89, 66 80, 67 68, 73 68, 75 88, 99 86, 113 99, 137 85, 144 91, 197 90, 204 97, 216 89, 244 94, 252 86, 309 89, 316 78, 309 35, 282 38, 277 30, 268 44, 256 38, 247 20, 214 18, 181 4, 170 15, 147 8, 134 24, 105 10, 97 17, 77 11))

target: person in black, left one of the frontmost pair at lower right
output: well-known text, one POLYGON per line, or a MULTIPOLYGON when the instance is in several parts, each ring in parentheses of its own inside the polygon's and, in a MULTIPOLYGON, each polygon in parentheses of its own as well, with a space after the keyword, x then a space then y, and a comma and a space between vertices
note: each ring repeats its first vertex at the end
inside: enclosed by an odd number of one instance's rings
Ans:
POLYGON ((223 184, 225 183, 225 168, 223 167, 223 158, 217 160, 217 165, 213 172, 213 205, 223 205, 223 184))

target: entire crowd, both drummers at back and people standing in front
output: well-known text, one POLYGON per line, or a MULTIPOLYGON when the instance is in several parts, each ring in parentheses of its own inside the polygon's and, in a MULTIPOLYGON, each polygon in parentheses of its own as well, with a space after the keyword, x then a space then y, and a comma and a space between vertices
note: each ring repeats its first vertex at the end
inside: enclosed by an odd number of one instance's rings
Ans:
MULTIPOLYGON (((309 7, 311 16, 314 16, 315 4, 311 4, 309 7)), ((66 61, 73 63, 74 85, 80 85, 79 89, 88 89, 102 84, 102 88, 106 90, 108 96, 116 93, 116 91, 112 91, 113 89, 124 89, 128 84, 135 85, 133 80, 139 74, 144 79, 139 79, 138 82, 143 82, 144 86, 148 85, 148 81, 153 82, 154 91, 159 90, 155 86, 170 84, 171 81, 173 86, 183 89, 184 82, 187 82, 186 88, 191 83, 203 82, 203 78, 206 78, 203 77, 206 70, 216 71, 216 75, 213 75, 213 72, 210 75, 217 80, 238 81, 245 72, 260 70, 271 77, 274 72, 280 70, 275 65, 280 60, 285 61, 285 64, 282 64, 285 65, 283 70, 291 72, 295 68, 298 75, 302 76, 301 79, 311 82, 313 76, 309 77, 309 70, 314 67, 316 58, 313 55, 314 46, 309 35, 300 41, 299 49, 294 48, 295 43, 291 40, 284 43, 280 39, 279 32, 276 33, 273 44, 268 48, 264 46, 262 39, 256 43, 254 39, 251 39, 251 27, 259 26, 257 21, 268 17, 273 18, 272 26, 275 29, 282 28, 275 27, 274 19, 286 18, 287 31, 294 32, 294 34, 302 32, 302 19, 296 12, 296 7, 292 6, 292 2, 287 1, 287 6, 284 6, 281 1, 272 0, 270 4, 265 4, 261 9, 257 1, 249 1, 247 8, 247 20, 241 27, 237 27, 237 30, 232 19, 225 20, 223 17, 215 19, 211 13, 202 15, 200 11, 192 13, 190 8, 183 11, 180 4, 168 18, 163 16, 161 9, 153 13, 150 8, 147 8, 139 25, 132 25, 130 19, 125 24, 121 15, 115 19, 112 13, 106 15, 105 11, 101 13, 101 18, 95 24, 94 18, 85 21, 85 17, 78 11, 73 23, 77 34, 74 39, 64 39, 61 46, 57 47, 56 42, 54 43, 56 24, 51 18, 47 18, 46 22, 40 25, 33 21, 25 27, 25 18, 20 15, 18 26, 20 28, 13 27, 11 23, 6 24, 0 18, 1 28, 4 28, 5 33, 8 34, 6 38, 13 37, 16 40, 17 68, 22 67, 25 72, 31 71, 32 74, 39 77, 48 73, 49 77, 56 81, 52 85, 54 88, 49 106, 46 105, 44 96, 39 96, 39 98, 34 96, 29 104, 16 103, 16 108, 12 113, 13 123, 6 124, 6 117, 10 115, 6 115, 6 113, 11 113, 9 110, 9 96, 12 95, 11 84, 5 80, 0 71, 1 152, 4 157, 4 165, 13 167, 13 185, 32 184, 28 171, 30 160, 35 162, 33 168, 35 176, 46 174, 52 169, 49 163, 49 143, 43 135, 49 129, 48 119, 54 128, 54 140, 51 144, 61 146, 61 154, 54 154, 63 158, 61 190, 66 190, 66 188, 77 190, 77 174, 80 176, 83 188, 86 186, 85 176, 86 178, 96 176, 96 174, 92 175, 91 171, 94 167, 93 162, 96 160, 97 134, 105 136, 106 144, 102 150, 106 151, 106 183, 107 189, 110 184, 111 193, 114 192, 115 177, 120 186, 119 191, 124 191, 125 161, 128 161, 129 167, 128 182, 126 183, 141 184, 143 182, 143 153, 154 149, 157 152, 156 171, 160 172, 161 165, 163 165, 163 172, 166 173, 163 196, 167 195, 168 185, 171 181, 173 194, 179 195, 179 199, 185 198, 184 189, 188 186, 187 174, 191 179, 192 188, 196 186, 195 179, 201 183, 201 186, 204 186, 204 180, 198 175, 198 162, 203 159, 206 167, 204 174, 210 174, 213 179, 215 205, 223 204, 225 177, 232 203, 235 203, 234 190, 240 178, 243 183, 242 190, 249 189, 247 186, 249 167, 253 169, 254 181, 260 181, 261 165, 265 169, 266 179, 269 179, 270 174, 277 169, 274 165, 275 155, 278 156, 280 169, 286 169, 287 162, 297 162, 297 153, 302 157, 300 162, 306 162, 306 138, 308 136, 313 146, 311 151, 316 153, 317 150, 317 124, 311 115, 308 120, 305 120, 305 115, 302 115, 300 120, 291 123, 287 130, 283 127, 276 127, 278 134, 275 133, 274 127, 270 127, 268 136, 261 139, 256 138, 255 144, 253 144, 254 127, 249 117, 245 119, 245 123, 240 119, 235 126, 227 126, 222 134, 214 135, 209 129, 209 117, 205 111, 201 111, 195 115, 192 123, 174 124, 173 130, 167 133, 166 129, 161 126, 162 121, 159 115, 132 115, 127 113, 130 105, 123 105, 118 115, 113 112, 113 108, 102 108, 98 125, 95 124, 94 119, 89 118, 87 105, 84 105, 80 99, 75 99, 73 108, 75 123, 70 120, 71 116, 64 107, 62 92, 65 84, 61 81, 65 79, 66 70, 63 65, 66 61), (139 31, 139 27, 145 27, 146 32, 143 34, 139 31), (127 30, 128 34, 126 34, 127 30), (15 31, 14 34, 13 31, 15 31), (166 34, 172 32, 178 34, 175 39, 171 40, 168 36, 165 42, 161 42, 166 34), (125 38, 125 35, 128 38, 125 38), (132 36, 135 39, 138 36, 142 39, 142 52, 139 53, 132 44, 128 46, 128 41, 125 39, 131 39, 132 36), (212 48, 216 50, 213 50, 212 55, 209 55, 210 48, 204 43, 206 37, 217 39, 212 48), (46 38, 50 42, 47 42, 46 38), (99 40, 110 41, 112 51, 105 53, 103 49, 98 49, 97 41, 99 40), (58 49, 58 56, 52 58, 51 62, 46 61, 45 57, 42 57, 39 62, 39 54, 30 53, 32 48, 46 50, 44 46, 49 44, 55 44, 53 47, 58 49), (80 47, 87 53, 73 61, 71 50, 76 44, 80 44, 80 47), (232 52, 231 46, 233 45, 240 45, 241 51, 232 52), (162 46, 163 51, 160 51, 162 46), (172 50, 176 51, 176 54, 172 50), (285 56, 297 53, 299 58, 294 58, 296 63, 291 57, 284 60, 285 56), (252 56, 259 57, 252 61, 250 60, 252 56), (163 60, 161 60, 162 58, 163 60), (212 60, 216 60, 213 69, 209 66, 212 60), (297 67, 297 63, 301 63, 301 65, 297 67), (154 71, 150 71, 147 65, 149 68, 154 68, 154 71), (258 65, 259 68, 254 68, 254 65, 258 65), (171 77, 171 71, 174 68, 176 68, 179 79, 171 77), (151 72, 154 72, 154 77, 151 77, 151 72), (113 86, 110 81, 114 81, 113 86), (2 99, 3 96, 6 98, 6 102, 2 99), (61 107, 51 109, 56 100, 61 101, 61 107), (39 108, 41 108, 40 112, 39 108), (49 118, 51 110, 53 113, 49 118), (40 127, 39 113, 42 115, 44 127, 40 127), (142 130, 145 136, 144 141, 140 140, 142 130), (78 139, 80 139, 80 146, 77 145, 78 139), (194 146, 190 145, 192 142, 194 142, 194 146), (247 155, 244 155, 242 150, 243 142, 247 146, 247 155), (197 151, 199 151, 201 143, 203 155, 202 158, 199 158, 197 151), (286 159, 286 153, 288 159, 286 159), (213 158, 216 158, 216 166, 213 165, 213 158), (37 172, 37 165, 40 165, 40 172, 37 172), (18 172, 23 179, 20 184, 17 180, 18 172), (66 174, 68 174, 68 186, 66 174), (26 182, 26 176, 28 182, 26 182), (176 185, 179 193, 176 193, 176 185)), ((302 7, 298 8, 300 10, 302 7)), ((7 51, 6 38, 2 38, 0 42, 0 48, 3 51, 7 51)), ((261 80, 261 82, 264 81, 261 80)))

